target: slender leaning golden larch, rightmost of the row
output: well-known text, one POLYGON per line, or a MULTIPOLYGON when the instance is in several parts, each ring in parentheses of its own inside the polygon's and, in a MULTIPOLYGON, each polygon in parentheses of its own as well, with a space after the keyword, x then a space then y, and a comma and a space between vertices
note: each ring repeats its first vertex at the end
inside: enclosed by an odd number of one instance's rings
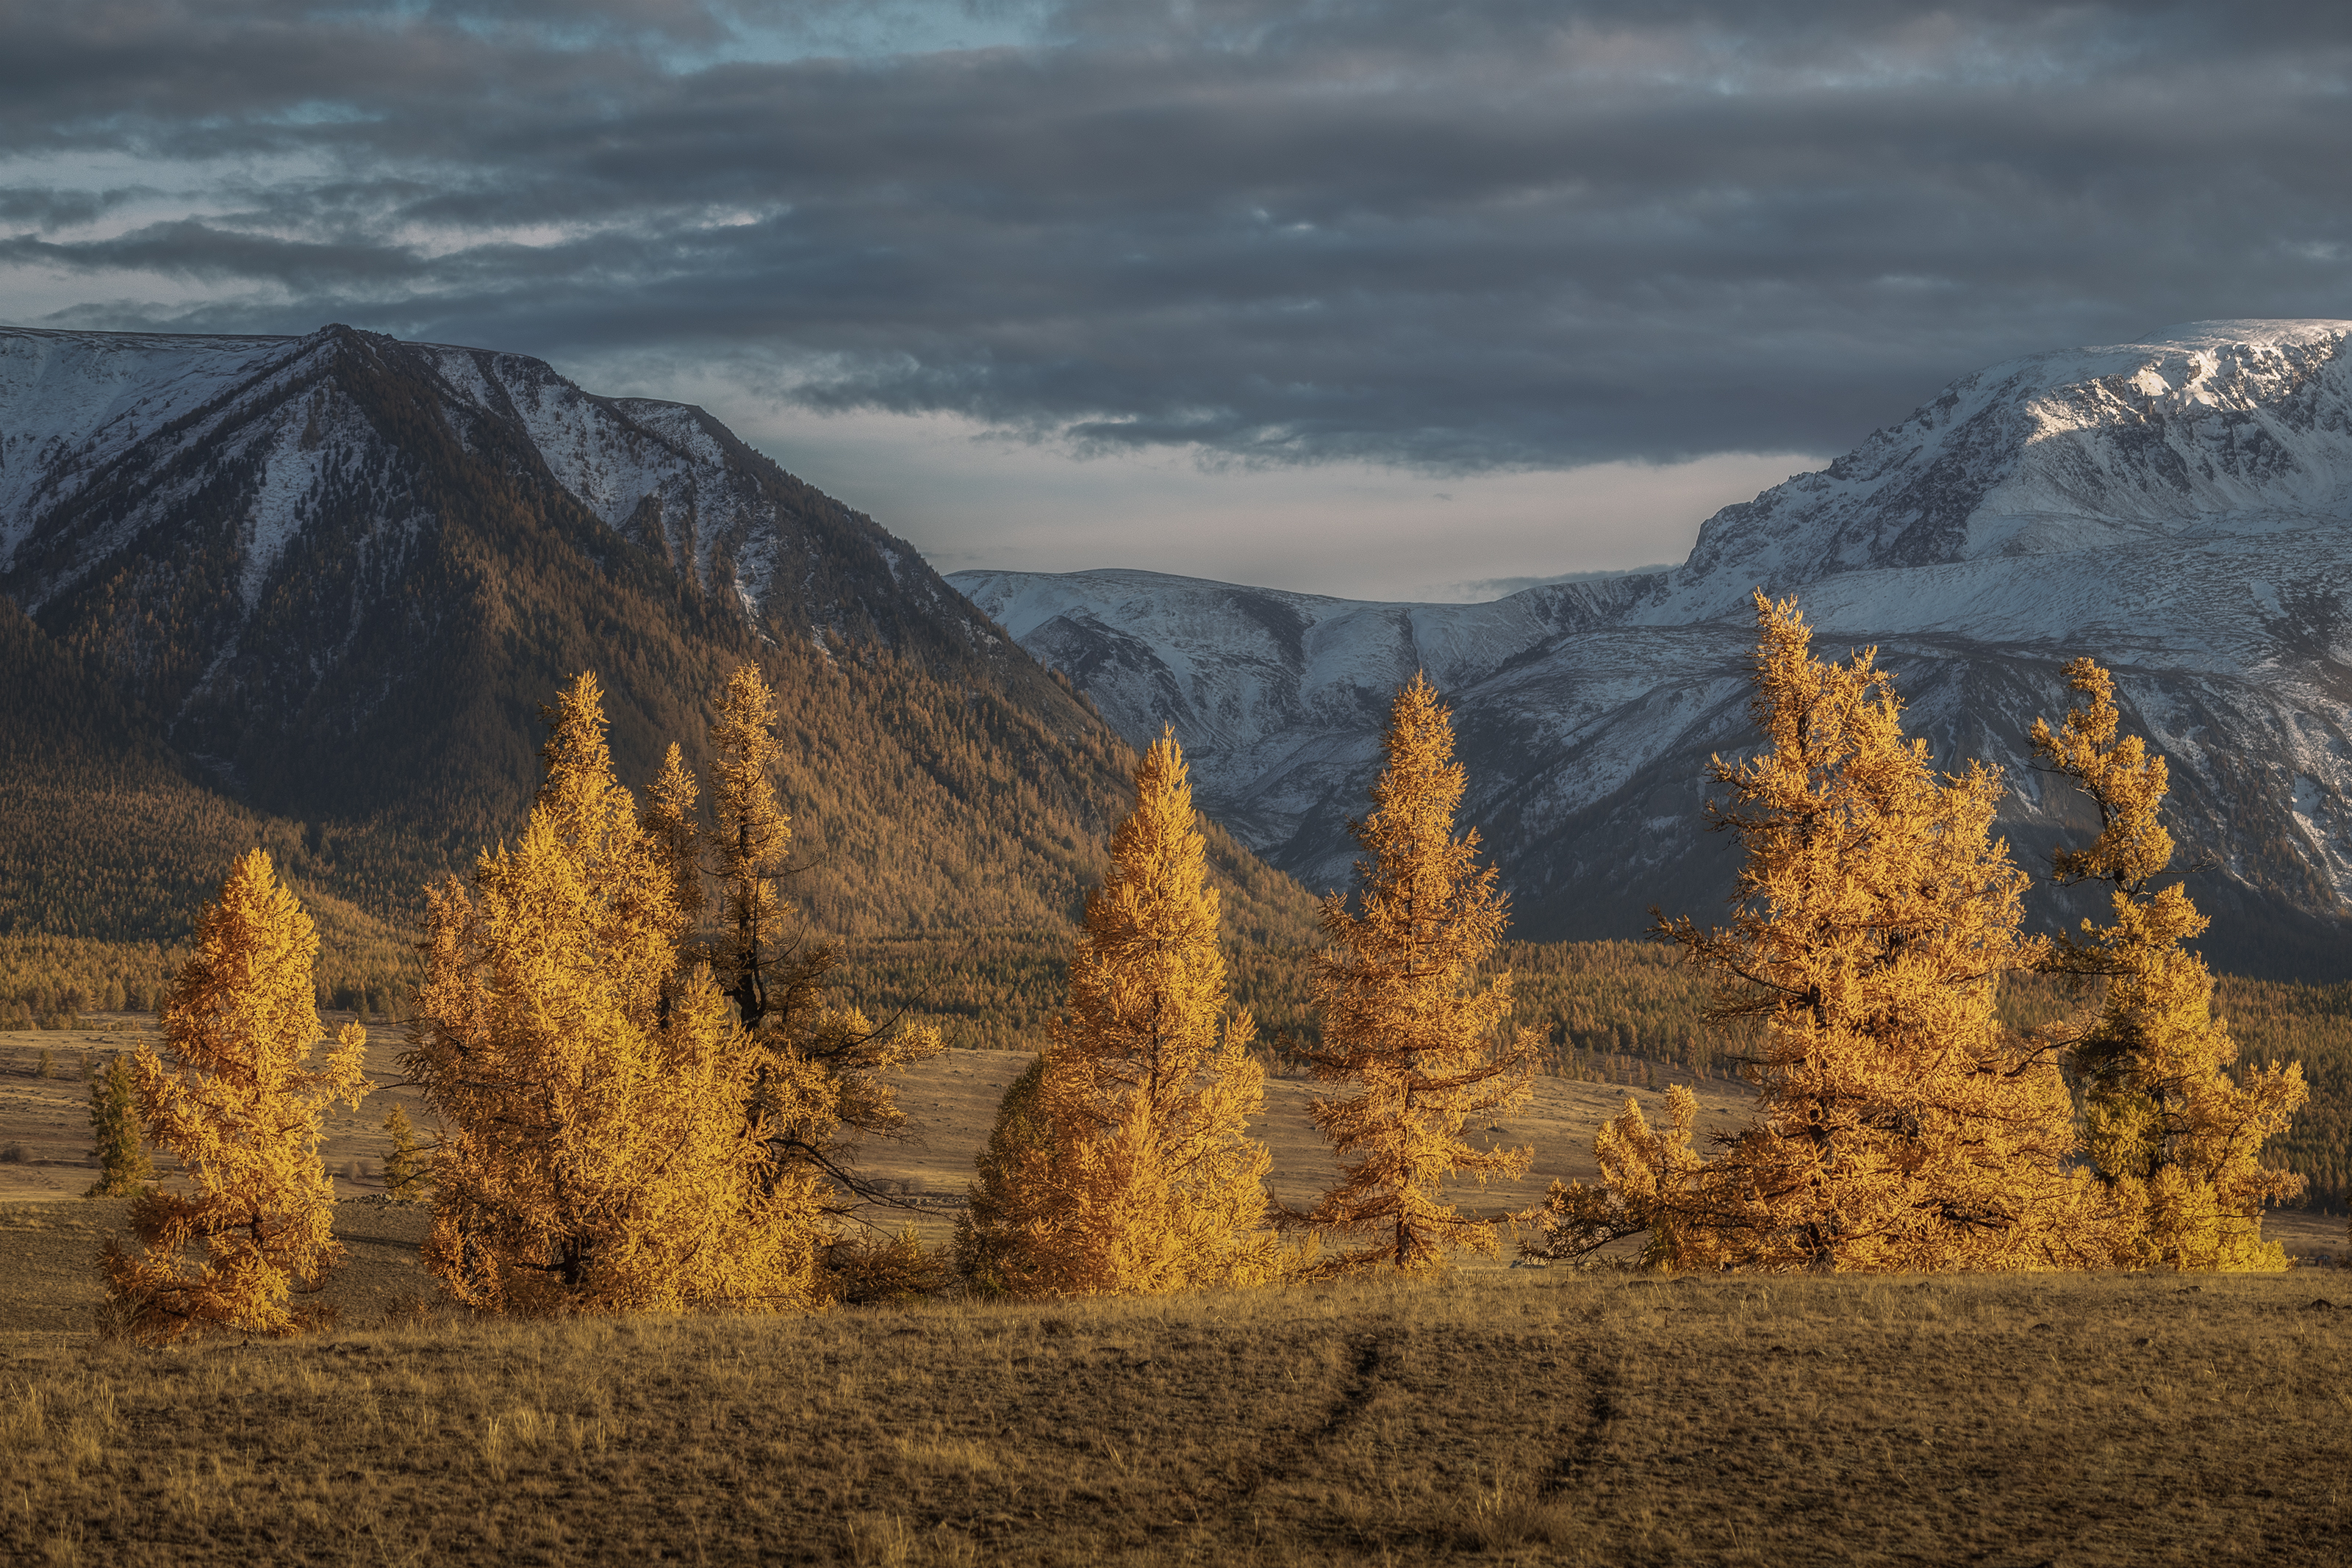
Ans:
POLYGON ((2098 1018, 2070 1041, 2084 1086, 2084 1143, 2124 1213, 2117 1262, 2171 1269, 2284 1269, 2263 1241, 2263 1204, 2296 1197, 2303 1178, 2265 1171, 2263 1140, 2286 1131, 2307 1091, 2303 1065, 2232 1079, 2237 1041, 2213 1016, 2213 976, 2183 943, 2206 929, 2171 867, 2159 811, 2164 757, 2117 736, 2114 677, 2089 658, 2067 665, 2089 701, 2058 729, 2034 719, 2034 755, 2098 809, 2086 849, 2060 849, 2058 884, 2103 882, 2114 922, 2082 922, 2046 959, 2056 973, 2103 980, 2098 1018))

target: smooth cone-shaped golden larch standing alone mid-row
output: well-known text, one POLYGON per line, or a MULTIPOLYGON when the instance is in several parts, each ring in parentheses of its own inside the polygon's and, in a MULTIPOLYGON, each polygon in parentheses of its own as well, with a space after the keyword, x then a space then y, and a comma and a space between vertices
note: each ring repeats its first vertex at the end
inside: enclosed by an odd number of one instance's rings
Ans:
POLYGON ((1228 1011, 1218 893, 1183 752, 1136 766, 1136 809, 1087 898, 1070 1001, 1014 1086, 960 1237, 983 1288, 1145 1295, 1272 1279, 1256 1025, 1228 1011))

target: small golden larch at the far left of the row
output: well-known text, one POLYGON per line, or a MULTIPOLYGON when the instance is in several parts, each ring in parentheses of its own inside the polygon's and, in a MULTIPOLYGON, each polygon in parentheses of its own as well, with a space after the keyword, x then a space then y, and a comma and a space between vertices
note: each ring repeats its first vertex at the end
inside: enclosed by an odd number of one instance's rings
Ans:
POLYGON ((315 1321, 294 1298, 318 1293, 343 1260, 334 1185, 320 1161, 332 1103, 367 1095, 367 1032, 325 1034, 310 969, 318 931, 254 849, 195 924, 195 954, 162 1006, 169 1063, 153 1044, 134 1060, 148 1135, 179 1154, 186 1190, 146 1192, 132 1208, 143 1248, 106 1241, 106 1284, 141 1340, 202 1328, 289 1335, 315 1321), (186 1258, 191 1244, 202 1255, 186 1258))

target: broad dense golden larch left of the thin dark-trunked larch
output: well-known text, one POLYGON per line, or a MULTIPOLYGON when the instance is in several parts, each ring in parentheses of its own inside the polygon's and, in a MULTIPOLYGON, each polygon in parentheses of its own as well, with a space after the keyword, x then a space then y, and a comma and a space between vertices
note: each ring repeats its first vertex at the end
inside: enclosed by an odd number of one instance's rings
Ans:
POLYGON ((550 715, 520 842, 428 891, 405 1065, 442 1121, 426 1262, 520 1314, 816 1300, 816 1185, 743 1105, 760 1053, 680 964, 663 844, 612 776, 602 691, 550 715))

